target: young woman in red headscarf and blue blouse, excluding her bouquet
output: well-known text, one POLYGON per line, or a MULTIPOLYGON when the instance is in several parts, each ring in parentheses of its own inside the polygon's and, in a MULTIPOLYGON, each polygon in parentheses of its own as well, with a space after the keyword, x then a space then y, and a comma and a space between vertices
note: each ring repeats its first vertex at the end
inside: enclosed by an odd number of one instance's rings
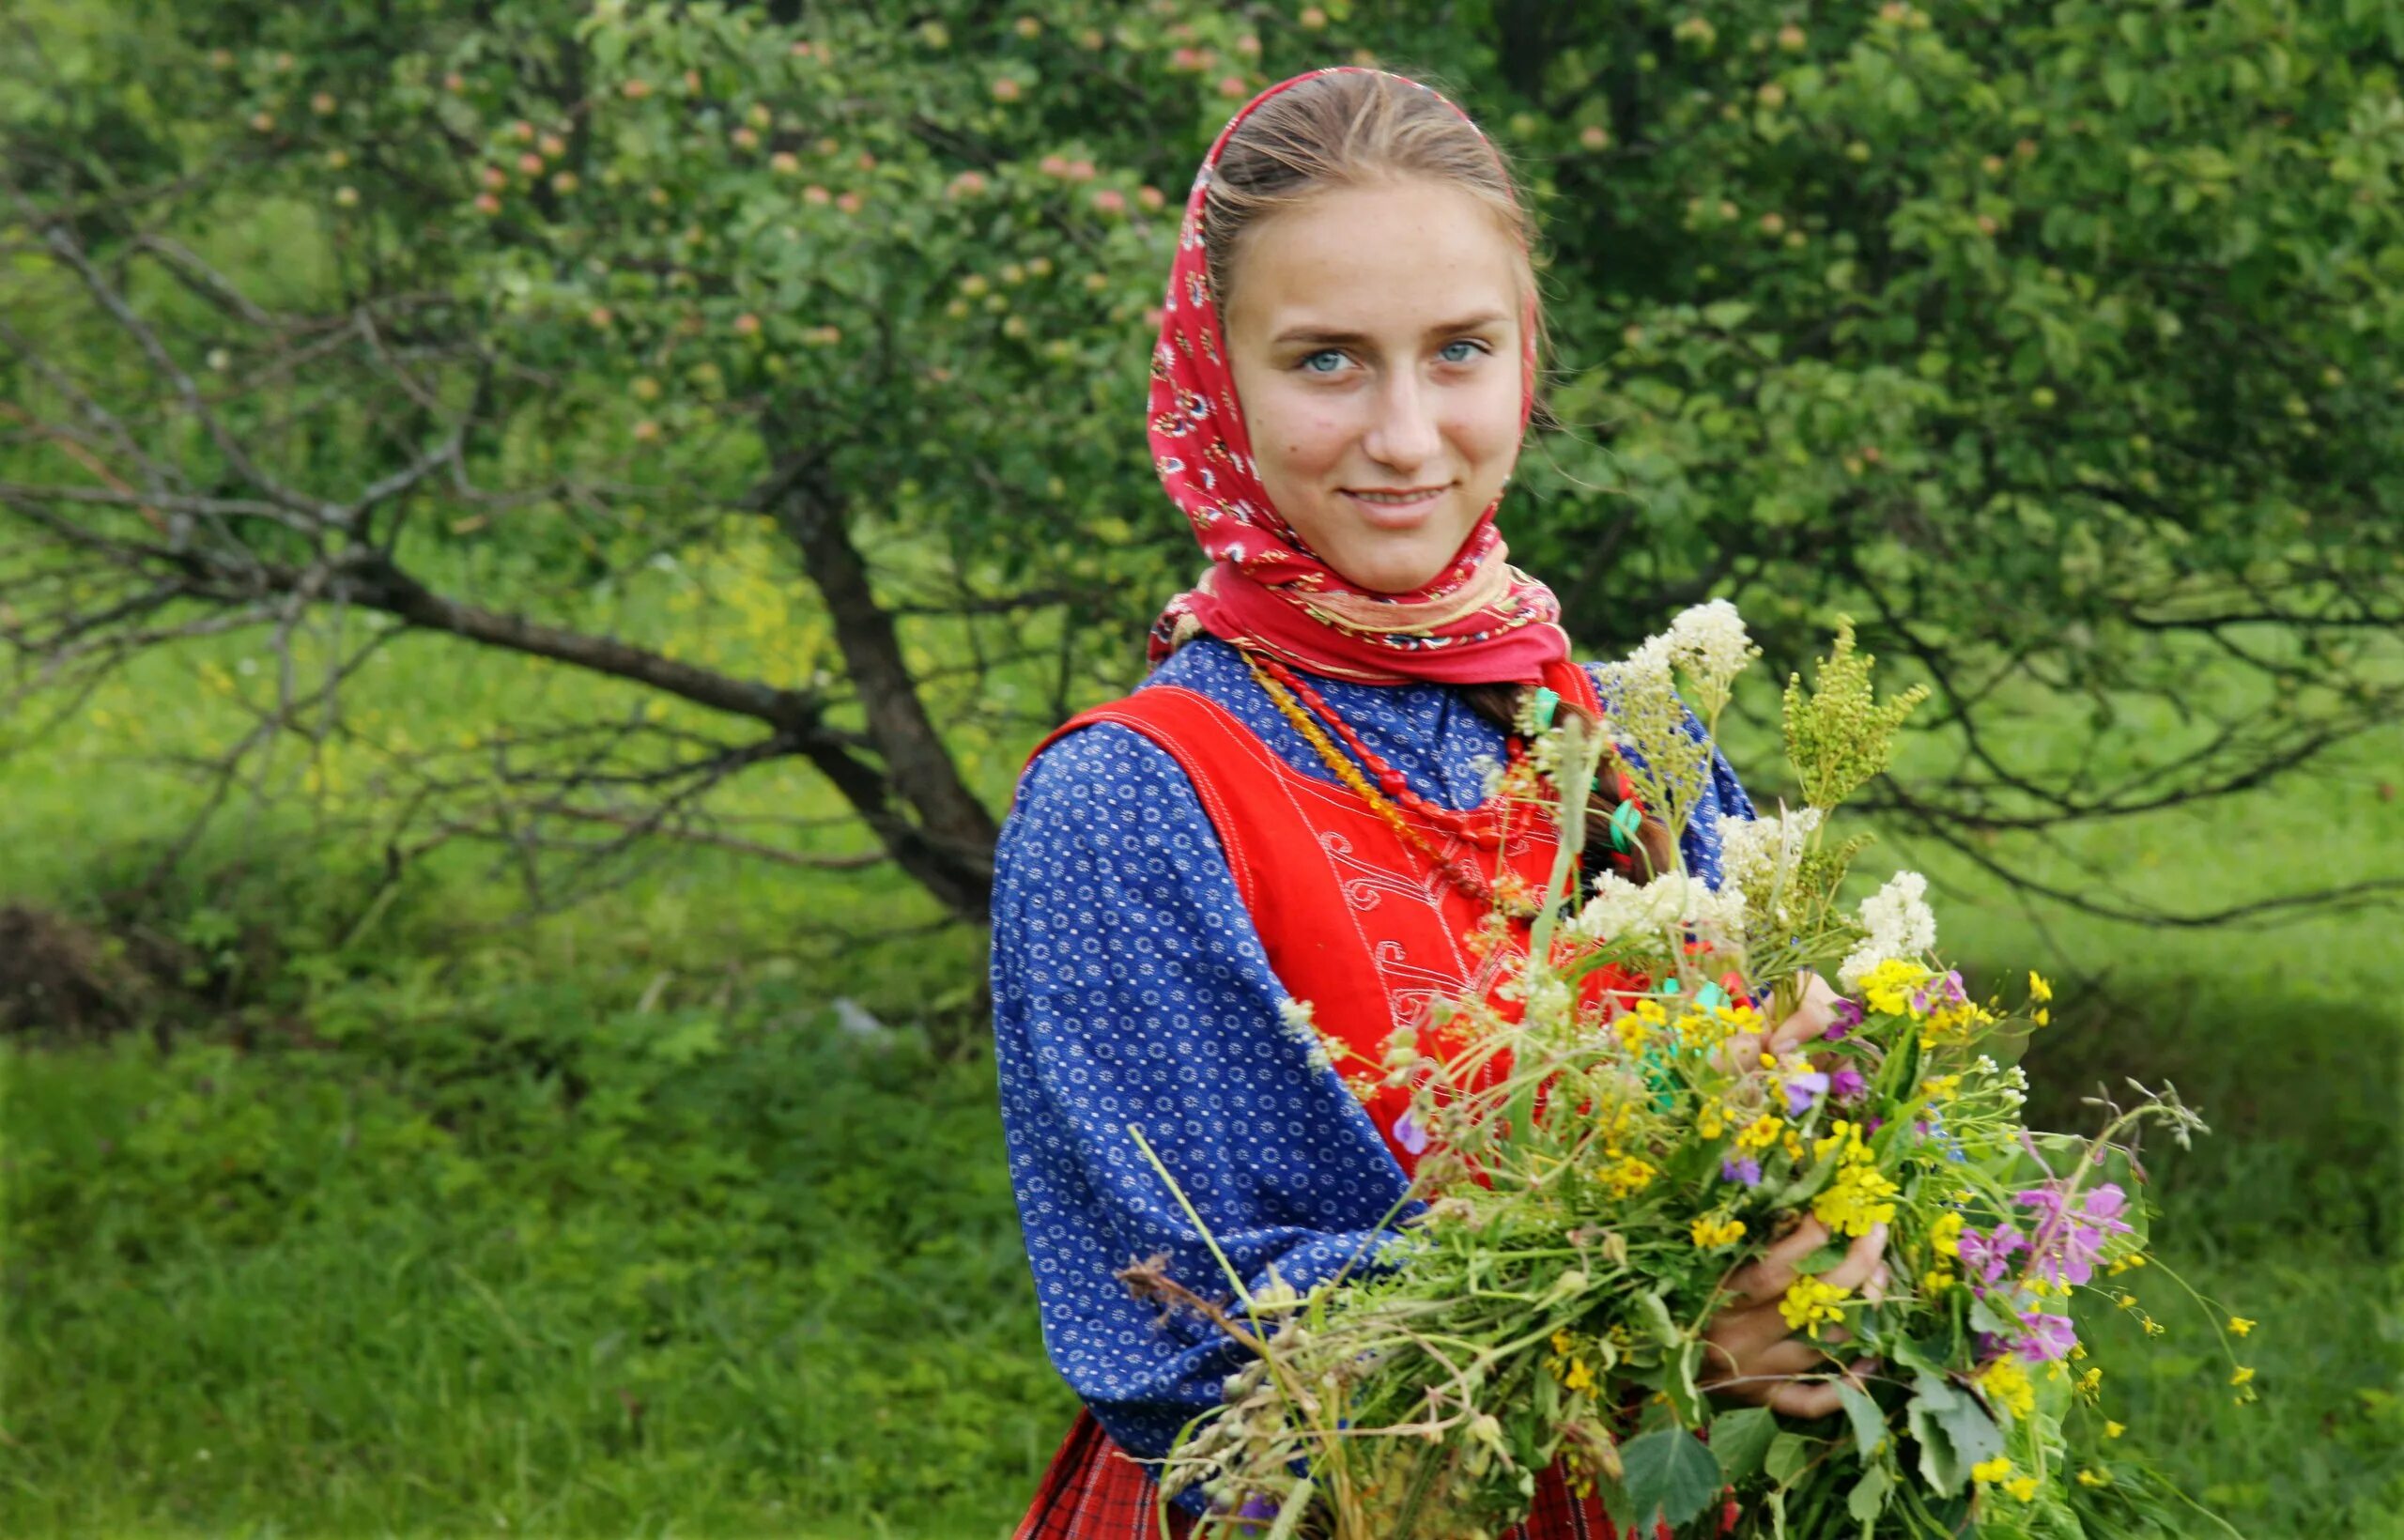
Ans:
MULTIPOLYGON (((1152 365, 1154 459, 1212 567, 1161 615, 1144 685, 1036 752, 998 855, 1010 1165, 1043 1341, 1084 1401, 1019 1540, 1156 1533, 1139 1461, 1240 1362, 1115 1278, 1164 1257, 1219 1285, 1135 1129, 1248 1281, 1274 1264, 1310 1288, 1370 1261, 1416 1141, 1399 1093, 1363 1105, 1341 1074, 1430 999, 1488 987, 1502 959, 1481 920, 1524 911, 1519 882, 1551 867, 1551 829, 1486 802, 1524 692, 1599 711, 1553 593, 1495 531, 1536 346, 1527 216, 1450 101, 1322 70, 1219 135, 1152 365)), ((1596 795, 1584 870, 1668 865, 1656 819, 1611 841, 1618 805, 1596 795)), ((1683 846, 1714 884, 1721 817, 1753 817, 1724 759, 1683 846)), ((1815 985, 1779 1045, 1817 1035, 1829 997, 1815 985)), ((1733 1281, 1712 1326, 1721 1393, 1837 1408, 1832 1365, 1777 1312, 1786 1264, 1825 1240, 1810 1223, 1733 1281)), ((1832 1281, 1875 1288, 1880 1244, 1832 1281)), ((1173 1533, 1200 1509, 1180 1494, 1173 1533)), ((1512 1530, 1608 1533, 1555 1473, 1512 1530)))

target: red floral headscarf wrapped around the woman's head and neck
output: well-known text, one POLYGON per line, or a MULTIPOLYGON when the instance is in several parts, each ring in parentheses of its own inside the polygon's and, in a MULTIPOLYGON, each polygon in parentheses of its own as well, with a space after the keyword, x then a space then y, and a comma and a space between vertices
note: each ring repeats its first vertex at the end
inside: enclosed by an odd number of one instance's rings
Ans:
MULTIPOLYGON (((1185 199, 1161 339, 1152 351, 1152 464, 1168 497, 1192 521, 1212 567, 1192 591, 1161 610, 1152 627, 1152 661, 1159 663, 1197 632, 1209 632, 1310 673, 1373 685, 1531 682, 1546 673, 1546 663, 1567 661, 1570 637, 1560 629, 1553 591, 1505 560, 1493 505, 1478 514, 1435 581, 1411 593, 1373 593, 1303 545, 1269 502, 1252 461, 1252 437, 1236 401, 1219 310, 1209 296, 1204 202, 1226 142, 1262 101, 1305 79, 1349 70, 1351 65, 1341 65, 1296 74, 1248 101, 1219 130, 1185 199)), ((1428 91, 1418 82, 1406 84, 1428 91)), ((1459 113, 1457 106, 1452 111, 1459 113)), ((1531 296, 1519 327, 1522 432, 1536 382, 1534 310, 1531 296)))

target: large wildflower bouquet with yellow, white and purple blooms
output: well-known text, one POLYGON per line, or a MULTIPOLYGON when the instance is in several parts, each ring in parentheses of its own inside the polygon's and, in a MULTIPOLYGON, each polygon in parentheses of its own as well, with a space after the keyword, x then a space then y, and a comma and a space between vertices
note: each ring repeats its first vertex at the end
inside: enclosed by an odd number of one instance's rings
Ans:
POLYGON ((2149 1264, 2137 1132, 2185 1144, 2202 1122, 2135 1086, 2091 1136, 2022 1127, 2027 1081, 2003 1060, 2046 1023, 2046 980, 1976 997, 1935 956, 1914 872, 1839 908, 1866 841, 1832 843, 1829 814, 1923 692, 1878 702, 1839 625, 1784 699, 1805 805, 1724 824, 1716 889, 1671 870, 1572 896, 1606 740, 1683 831, 1757 656, 1733 608, 1702 605, 1611 668, 1599 735, 1524 723, 1531 754, 1498 795, 1558 819, 1558 901, 1495 997, 1397 1023, 1356 1079, 1409 1086, 1397 1136, 1423 1144, 1375 1269, 1308 1293, 1236 1281, 1226 1307, 1125 1273, 1255 1350, 1164 1466, 1164 1497, 1212 1499, 1197 1533, 1483 1540, 1555 1463, 1644 1535, 2067 1538, 2168 1502, 2113 1441, 2077 1314, 2135 1309, 2118 1281, 2149 1264), (1817 968, 1846 995, 1825 1035, 1789 1043, 1774 1026, 1827 992, 1817 968), (1846 1266, 1856 1242, 1875 1273, 1846 1266), (1827 1350, 1813 1374, 1839 1413, 1714 1405, 1733 1386, 1707 1333, 1748 1300, 1827 1350))

